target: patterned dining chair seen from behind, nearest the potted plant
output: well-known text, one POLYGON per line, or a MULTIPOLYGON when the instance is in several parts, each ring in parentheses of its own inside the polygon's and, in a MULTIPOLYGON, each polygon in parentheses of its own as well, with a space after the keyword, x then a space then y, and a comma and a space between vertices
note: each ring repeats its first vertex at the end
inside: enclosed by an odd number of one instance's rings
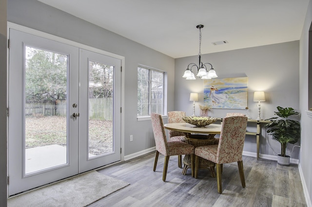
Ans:
POLYGON ((195 148, 195 178, 198 174, 199 157, 215 162, 218 193, 222 193, 221 173, 224 163, 237 162, 240 181, 245 188, 243 171, 243 147, 247 128, 247 117, 226 117, 222 121, 218 145, 207 145, 195 148))

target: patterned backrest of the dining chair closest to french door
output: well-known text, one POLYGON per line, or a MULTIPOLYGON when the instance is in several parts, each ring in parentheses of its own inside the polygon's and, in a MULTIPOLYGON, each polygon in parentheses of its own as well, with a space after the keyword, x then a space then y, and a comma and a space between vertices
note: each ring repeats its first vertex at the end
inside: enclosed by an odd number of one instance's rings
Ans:
POLYGON ((152 127, 154 132, 156 150, 162 155, 168 155, 168 143, 164 128, 164 123, 160 114, 152 113, 152 127))

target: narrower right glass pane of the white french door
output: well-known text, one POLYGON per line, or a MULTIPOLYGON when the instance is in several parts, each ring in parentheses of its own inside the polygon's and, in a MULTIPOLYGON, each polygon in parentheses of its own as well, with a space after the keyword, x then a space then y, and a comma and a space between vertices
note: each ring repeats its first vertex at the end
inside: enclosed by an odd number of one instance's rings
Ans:
POLYGON ((113 152, 114 66, 89 61, 89 157, 113 152))

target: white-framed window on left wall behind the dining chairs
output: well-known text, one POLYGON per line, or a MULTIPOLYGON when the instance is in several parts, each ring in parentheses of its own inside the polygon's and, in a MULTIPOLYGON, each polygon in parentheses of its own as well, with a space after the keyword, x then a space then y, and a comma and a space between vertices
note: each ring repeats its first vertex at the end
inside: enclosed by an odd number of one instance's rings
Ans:
POLYGON ((164 73, 143 66, 137 67, 137 116, 163 115, 164 73))

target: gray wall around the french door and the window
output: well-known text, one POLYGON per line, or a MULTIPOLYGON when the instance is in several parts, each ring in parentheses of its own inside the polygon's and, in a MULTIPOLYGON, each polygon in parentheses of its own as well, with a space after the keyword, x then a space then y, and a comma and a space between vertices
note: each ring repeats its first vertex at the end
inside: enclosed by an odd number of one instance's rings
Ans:
POLYGON ((10 22, 124 56, 125 155, 155 146, 151 121, 137 121, 137 65, 168 73, 168 110, 173 110, 173 58, 37 0, 9 0, 7 13, 10 22), (129 141, 130 135, 133 135, 132 142, 129 141))

